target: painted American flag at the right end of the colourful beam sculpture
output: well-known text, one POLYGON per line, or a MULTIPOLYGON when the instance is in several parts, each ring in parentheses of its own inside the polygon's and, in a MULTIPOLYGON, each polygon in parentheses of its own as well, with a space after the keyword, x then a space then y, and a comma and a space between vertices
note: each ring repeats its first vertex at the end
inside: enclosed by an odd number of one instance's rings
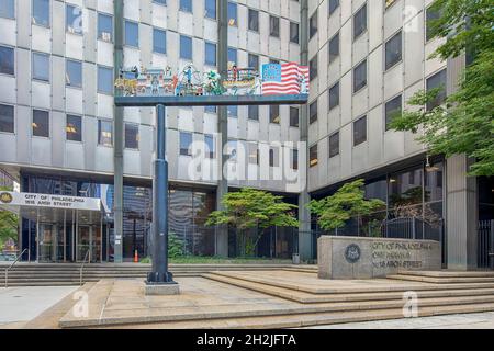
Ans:
POLYGON ((262 94, 308 94, 308 67, 295 63, 262 66, 262 94))

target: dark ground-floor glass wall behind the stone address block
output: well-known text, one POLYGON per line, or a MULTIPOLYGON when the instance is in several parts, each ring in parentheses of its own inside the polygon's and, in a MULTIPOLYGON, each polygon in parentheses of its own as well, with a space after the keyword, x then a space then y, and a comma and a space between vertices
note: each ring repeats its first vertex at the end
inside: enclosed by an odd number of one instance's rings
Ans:
MULTIPOLYGON (((385 206, 370 215, 352 217, 345 227, 329 234, 441 240, 444 173, 441 161, 424 162, 366 180, 366 197, 382 200, 385 206)), ((322 231, 315 219, 313 229, 322 231)))

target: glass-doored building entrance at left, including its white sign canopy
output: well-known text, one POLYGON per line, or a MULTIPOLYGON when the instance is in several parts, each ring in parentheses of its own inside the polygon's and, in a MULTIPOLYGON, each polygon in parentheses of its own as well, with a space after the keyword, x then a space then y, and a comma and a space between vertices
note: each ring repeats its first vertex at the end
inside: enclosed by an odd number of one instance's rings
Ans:
POLYGON ((41 263, 103 262, 110 225, 100 199, 7 193, 3 210, 16 213, 23 222, 20 248, 27 259, 41 263), (9 194, 9 196, 7 195, 9 194))

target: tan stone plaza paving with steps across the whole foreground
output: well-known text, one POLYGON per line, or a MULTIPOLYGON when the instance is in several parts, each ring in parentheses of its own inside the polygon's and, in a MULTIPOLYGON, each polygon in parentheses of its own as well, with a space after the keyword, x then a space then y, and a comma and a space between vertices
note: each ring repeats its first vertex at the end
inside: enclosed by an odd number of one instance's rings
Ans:
MULTIPOLYGON (((412 276, 429 276, 423 274, 412 276)), ((453 274, 454 283, 449 273, 437 276, 444 282, 319 280, 315 271, 293 269, 211 271, 177 278, 181 294, 175 296, 146 296, 144 280, 135 278, 80 288, 10 288, 0 295, 10 314, 3 313, 0 328, 492 328, 491 273, 453 274), (411 291, 419 318, 403 319, 403 294, 411 291), (21 292, 26 302, 15 297, 21 292)))

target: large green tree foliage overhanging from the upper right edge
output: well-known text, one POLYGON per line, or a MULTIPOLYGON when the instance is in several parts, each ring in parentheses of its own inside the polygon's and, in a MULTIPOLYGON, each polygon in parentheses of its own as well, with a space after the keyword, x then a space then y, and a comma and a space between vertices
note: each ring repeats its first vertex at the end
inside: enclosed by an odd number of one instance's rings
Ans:
MULTIPOLYGON (((436 0, 431 21, 435 37, 447 38, 431 55, 440 59, 467 53, 469 65, 460 77, 459 89, 446 103, 428 111, 427 102, 440 89, 417 92, 408 103, 417 106, 395 116, 395 131, 417 133, 431 154, 450 157, 465 154, 474 159, 471 176, 494 174, 494 7, 492 0, 436 0)), ((442 88, 445 89, 445 87, 442 88)))

